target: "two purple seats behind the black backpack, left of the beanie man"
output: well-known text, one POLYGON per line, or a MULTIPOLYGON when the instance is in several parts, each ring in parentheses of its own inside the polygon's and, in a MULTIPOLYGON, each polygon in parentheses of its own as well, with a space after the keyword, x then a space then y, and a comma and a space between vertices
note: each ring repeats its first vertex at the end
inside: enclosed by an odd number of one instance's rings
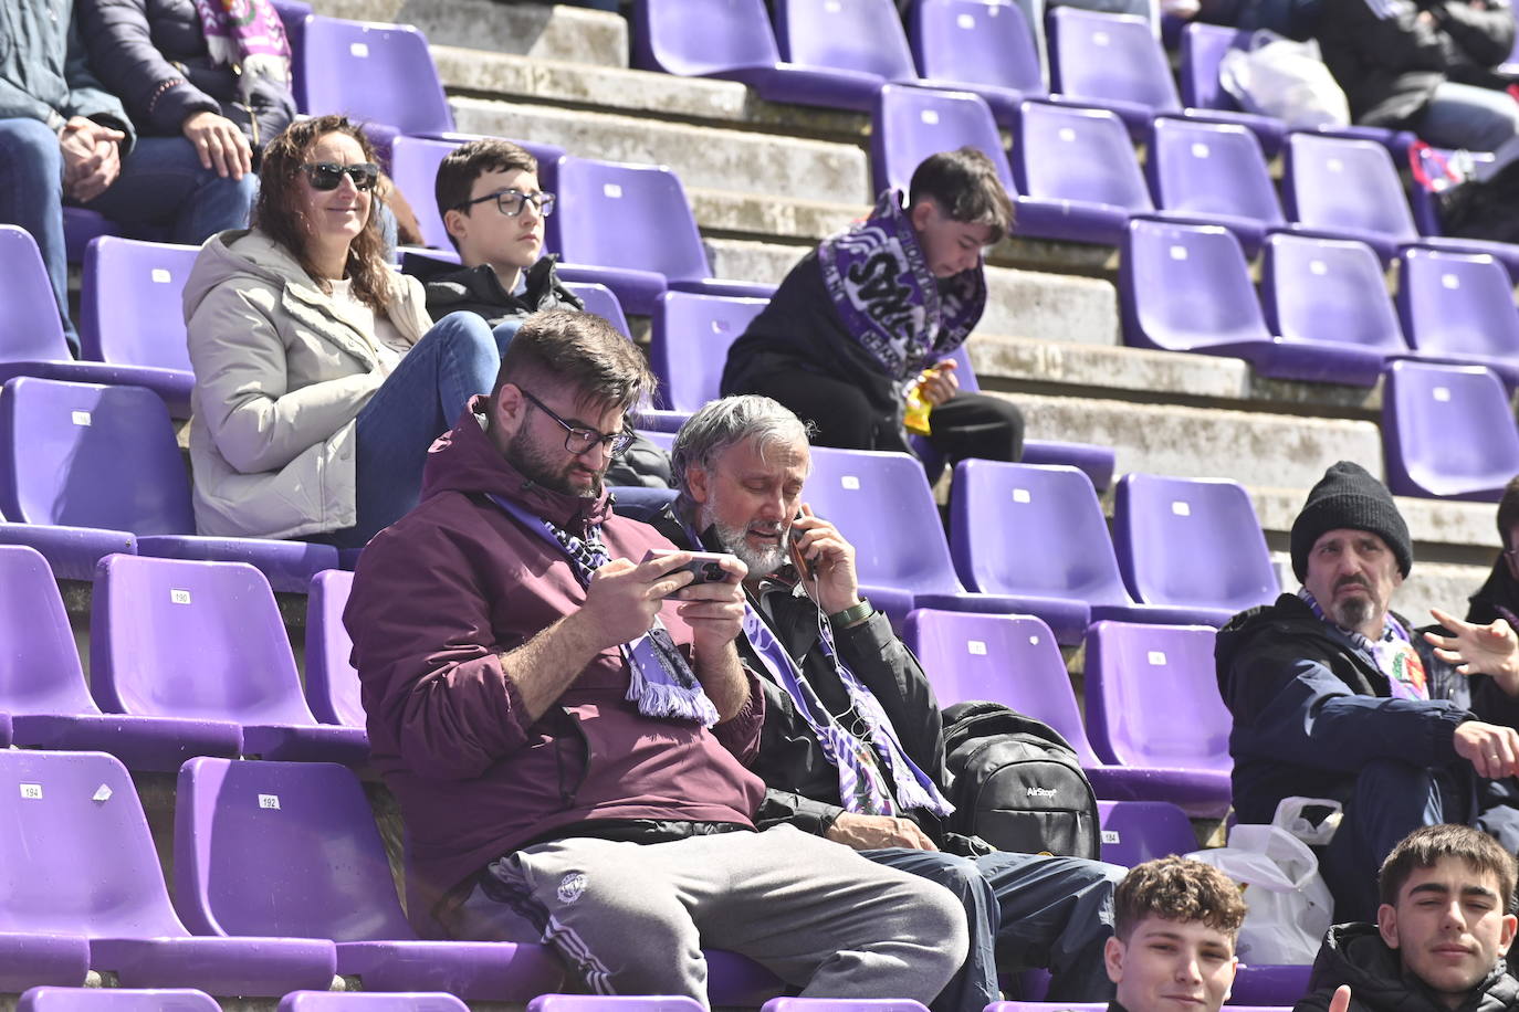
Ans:
POLYGON ((1230 718, 1214 686, 1214 630, 1095 624, 1085 725, 1056 637, 1034 616, 919 608, 904 636, 942 706, 990 699, 1044 721, 1075 750, 1098 798, 1227 812, 1230 718))

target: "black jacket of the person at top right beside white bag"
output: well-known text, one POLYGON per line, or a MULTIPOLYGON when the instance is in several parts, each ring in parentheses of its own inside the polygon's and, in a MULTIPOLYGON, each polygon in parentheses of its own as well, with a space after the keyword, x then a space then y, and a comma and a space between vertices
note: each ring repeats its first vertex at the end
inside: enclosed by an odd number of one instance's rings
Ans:
POLYGON ((1366 126, 1417 126, 1440 82, 1492 85, 1508 59, 1508 0, 1478 9, 1466 0, 1325 0, 1318 47, 1366 126), (1420 20, 1428 12, 1432 23, 1420 20))

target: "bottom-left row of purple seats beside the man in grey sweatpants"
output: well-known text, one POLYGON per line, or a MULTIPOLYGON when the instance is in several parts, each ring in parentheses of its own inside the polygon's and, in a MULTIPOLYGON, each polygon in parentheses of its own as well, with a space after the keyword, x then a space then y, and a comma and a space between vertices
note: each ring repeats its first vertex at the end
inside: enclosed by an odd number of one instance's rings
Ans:
MULTIPOLYGON (((96 970, 129 988, 278 997, 325 989, 336 974, 366 989, 521 1003, 565 983, 544 945, 419 941, 363 786, 343 766, 187 762, 173 904, 114 757, 0 753, 0 795, 11 827, 0 839, 0 989, 74 986, 96 970)), ((731 953, 708 962, 714 1004, 781 991, 731 953)))

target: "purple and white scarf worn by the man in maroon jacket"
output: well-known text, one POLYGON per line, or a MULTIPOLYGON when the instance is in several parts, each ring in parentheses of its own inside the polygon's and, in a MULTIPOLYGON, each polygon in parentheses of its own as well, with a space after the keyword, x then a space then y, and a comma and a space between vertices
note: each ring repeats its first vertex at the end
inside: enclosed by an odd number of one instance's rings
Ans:
MULTIPOLYGON (((582 587, 589 586, 591 574, 609 561, 598 525, 592 523, 586 536, 580 539, 510 499, 494 495, 489 499, 529 531, 557 546, 570 560, 570 569, 574 570, 582 587)), ((685 655, 674 645, 658 614, 647 633, 623 643, 620 649, 627 662, 627 695, 624 698, 629 702, 636 702, 639 713, 653 718, 694 721, 708 728, 717 724, 717 707, 702 690, 696 672, 685 663, 685 655)))

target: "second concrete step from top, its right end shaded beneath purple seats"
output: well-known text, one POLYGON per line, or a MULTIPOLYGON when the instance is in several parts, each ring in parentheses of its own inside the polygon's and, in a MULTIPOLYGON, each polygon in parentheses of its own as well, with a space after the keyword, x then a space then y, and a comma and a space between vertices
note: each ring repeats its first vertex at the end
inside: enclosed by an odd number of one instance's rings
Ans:
MULTIPOLYGON (((475 0, 478 2, 478 0, 475 0)), ((659 120, 744 126, 787 137, 864 143, 870 117, 861 112, 766 102, 737 80, 676 77, 586 61, 485 52, 472 38, 433 42, 433 62, 450 93, 636 112, 659 120)))

